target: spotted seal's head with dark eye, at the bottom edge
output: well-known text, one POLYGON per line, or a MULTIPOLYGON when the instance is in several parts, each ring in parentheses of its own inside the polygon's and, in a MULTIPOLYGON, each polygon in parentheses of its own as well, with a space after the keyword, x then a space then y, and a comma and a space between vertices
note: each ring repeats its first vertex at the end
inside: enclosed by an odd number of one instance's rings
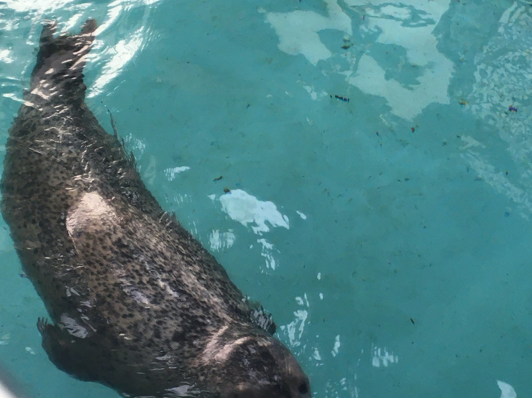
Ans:
POLYGON ((223 327, 202 356, 204 381, 219 398, 310 398, 309 378, 290 351, 261 330, 223 327))

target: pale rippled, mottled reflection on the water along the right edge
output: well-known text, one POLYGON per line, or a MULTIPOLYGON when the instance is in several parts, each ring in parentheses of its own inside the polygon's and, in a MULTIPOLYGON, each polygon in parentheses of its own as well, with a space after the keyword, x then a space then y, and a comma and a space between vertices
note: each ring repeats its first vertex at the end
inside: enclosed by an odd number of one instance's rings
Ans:
POLYGON ((532 105, 527 84, 532 80, 532 37, 523 29, 532 24, 529 8, 514 2, 501 16, 496 34, 475 57, 475 83, 470 93, 464 93, 464 110, 486 127, 474 138, 461 137, 462 155, 476 172, 473 177, 510 198, 525 219, 532 213, 532 114, 526 111, 532 105), (510 159, 494 156, 492 140, 497 135, 510 159))

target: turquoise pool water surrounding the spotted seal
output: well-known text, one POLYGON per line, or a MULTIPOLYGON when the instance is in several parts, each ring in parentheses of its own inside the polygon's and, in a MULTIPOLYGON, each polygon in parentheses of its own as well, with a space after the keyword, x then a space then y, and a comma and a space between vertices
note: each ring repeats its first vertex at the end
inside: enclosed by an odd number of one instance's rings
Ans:
MULTIPOLYGON (((532 394, 529 2, 7 0, 2 156, 39 22, 89 17, 89 107, 315 397, 532 394)), ((31 396, 118 396, 48 361, 0 223, 0 363, 31 396)))

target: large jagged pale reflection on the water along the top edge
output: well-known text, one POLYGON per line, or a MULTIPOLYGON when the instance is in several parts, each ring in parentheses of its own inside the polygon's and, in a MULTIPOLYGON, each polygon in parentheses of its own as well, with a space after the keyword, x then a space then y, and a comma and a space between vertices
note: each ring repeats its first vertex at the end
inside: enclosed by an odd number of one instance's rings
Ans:
MULTIPOLYGON (((325 3, 325 15, 300 10, 260 11, 279 37, 281 51, 301 54, 313 65, 326 61, 330 73, 345 76, 348 84, 364 93, 386 98, 391 112, 401 118, 410 120, 431 103, 450 103, 447 88, 454 67, 436 48, 434 35, 449 0, 404 0, 398 4, 346 0, 342 6, 336 0, 325 3), (344 45, 326 46, 318 35, 324 30, 345 34, 344 45), (394 51, 402 48, 405 55, 398 63, 387 57, 387 64, 383 64, 371 53, 375 44, 391 45, 394 51), (388 76, 390 71, 393 76, 388 76)), ((327 97, 315 93, 319 88, 303 87, 312 99, 327 97)))

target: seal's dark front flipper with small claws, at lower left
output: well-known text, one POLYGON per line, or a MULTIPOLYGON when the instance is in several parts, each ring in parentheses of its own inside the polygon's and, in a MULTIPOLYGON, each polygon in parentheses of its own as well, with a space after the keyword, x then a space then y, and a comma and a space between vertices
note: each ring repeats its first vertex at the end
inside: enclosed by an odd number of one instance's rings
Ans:
POLYGON ((97 380, 94 367, 90 366, 95 346, 92 338, 74 337, 44 318, 37 320, 37 329, 43 336, 44 351, 57 368, 81 380, 97 380))

